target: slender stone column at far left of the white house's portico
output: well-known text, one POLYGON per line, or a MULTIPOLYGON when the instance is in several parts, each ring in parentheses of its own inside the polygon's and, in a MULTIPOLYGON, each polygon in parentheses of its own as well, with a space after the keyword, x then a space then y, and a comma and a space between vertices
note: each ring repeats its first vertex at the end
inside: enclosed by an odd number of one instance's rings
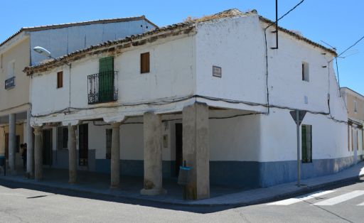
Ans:
POLYGON ((43 178, 43 145, 42 127, 34 127, 34 176, 36 180, 43 178))

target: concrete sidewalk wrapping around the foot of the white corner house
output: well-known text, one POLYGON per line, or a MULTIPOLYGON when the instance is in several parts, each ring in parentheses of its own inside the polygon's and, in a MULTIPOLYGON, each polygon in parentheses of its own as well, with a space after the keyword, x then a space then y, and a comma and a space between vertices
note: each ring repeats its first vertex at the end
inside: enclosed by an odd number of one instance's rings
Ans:
MULTIPOLYGON (((51 180, 38 182, 36 180, 27 180, 22 176, 0 176, 1 181, 5 180, 12 183, 17 183, 23 186, 38 185, 42 188, 53 188, 62 190, 71 190, 75 192, 87 192, 95 195, 105 195, 112 197, 123 197, 129 200, 136 201, 152 201, 161 202, 173 205, 188 205, 188 206, 243 206, 254 205, 260 202, 269 202, 279 197, 293 196, 296 194, 304 193, 310 190, 318 190, 320 187, 326 187, 333 183, 341 183, 348 180, 355 180, 364 176, 364 162, 353 165, 352 167, 342 170, 339 173, 326 175, 319 178, 311 178, 301 180, 305 186, 297 187, 296 182, 285 183, 282 185, 275 185, 272 187, 259 188, 254 190, 245 190, 236 192, 236 190, 215 190, 211 198, 205 200, 186 201, 181 199, 181 193, 168 191, 167 195, 146 196, 139 194, 139 188, 130 189, 129 187, 121 187, 116 190, 111 190, 105 185, 95 184, 76 184, 69 185, 67 180, 51 180)), ((105 181, 105 183, 108 183, 105 181)))

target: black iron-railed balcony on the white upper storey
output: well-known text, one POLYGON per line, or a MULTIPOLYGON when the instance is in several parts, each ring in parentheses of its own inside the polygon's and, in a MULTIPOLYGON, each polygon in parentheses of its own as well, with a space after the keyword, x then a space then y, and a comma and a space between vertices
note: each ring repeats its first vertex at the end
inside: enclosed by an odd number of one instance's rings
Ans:
POLYGON ((87 76, 88 104, 117 101, 117 71, 87 76))

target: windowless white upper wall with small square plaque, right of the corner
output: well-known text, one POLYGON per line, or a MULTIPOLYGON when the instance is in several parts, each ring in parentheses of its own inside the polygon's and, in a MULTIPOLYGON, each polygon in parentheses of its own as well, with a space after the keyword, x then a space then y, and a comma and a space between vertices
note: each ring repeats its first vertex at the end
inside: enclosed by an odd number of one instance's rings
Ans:
POLYGON ((265 104, 265 51, 258 17, 224 18, 201 23, 196 30, 196 94, 265 104), (221 78, 213 77, 213 65, 222 68, 221 78))

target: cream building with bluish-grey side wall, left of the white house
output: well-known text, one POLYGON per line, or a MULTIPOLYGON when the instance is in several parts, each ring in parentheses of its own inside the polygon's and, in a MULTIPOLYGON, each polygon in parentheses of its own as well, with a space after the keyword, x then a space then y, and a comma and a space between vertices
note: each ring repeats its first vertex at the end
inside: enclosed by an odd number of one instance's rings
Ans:
MULTIPOLYGON (((156 25, 145 16, 114 18, 21 28, 0 43, 0 82, 2 83, 0 87, 0 155, 6 155, 11 171, 22 168, 23 162, 19 149, 21 143, 28 144, 28 157, 31 157, 31 151, 33 151, 33 130, 29 124, 32 110, 29 101, 30 78, 24 75, 23 69, 49 59, 32 49, 41 46, 49 50, 53 57, 59 57, 107 40, 144 33, 153 28, 156 28, 156 25)), ((62 76, 58 78, 62 79, 62 76)), ((39 89, 43 95, 48 94, 46 88, 43 86, 39 89)), ((46 145, 50 142, 43 141, 43 143, 46 145)), ((31 169, 32 163, 28 162, 29 173, 32 172, 31 169)))

